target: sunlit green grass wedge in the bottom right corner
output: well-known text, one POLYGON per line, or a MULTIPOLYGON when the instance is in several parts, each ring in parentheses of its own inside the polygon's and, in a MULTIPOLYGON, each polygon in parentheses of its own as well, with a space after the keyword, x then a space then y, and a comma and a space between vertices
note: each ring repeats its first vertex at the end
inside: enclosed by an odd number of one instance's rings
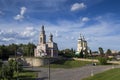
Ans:
POLYGON ((82 80, 120 80, 120 68, 111 69, 82 80))

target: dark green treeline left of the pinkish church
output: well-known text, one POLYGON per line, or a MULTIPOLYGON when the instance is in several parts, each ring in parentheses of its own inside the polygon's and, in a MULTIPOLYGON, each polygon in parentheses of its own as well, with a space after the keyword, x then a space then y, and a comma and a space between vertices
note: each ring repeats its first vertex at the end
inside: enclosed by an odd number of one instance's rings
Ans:
POLYGON ((35 44, 9 44, 0 45, 0 59, 8 59, 9 56, 33 56, 35 44))

